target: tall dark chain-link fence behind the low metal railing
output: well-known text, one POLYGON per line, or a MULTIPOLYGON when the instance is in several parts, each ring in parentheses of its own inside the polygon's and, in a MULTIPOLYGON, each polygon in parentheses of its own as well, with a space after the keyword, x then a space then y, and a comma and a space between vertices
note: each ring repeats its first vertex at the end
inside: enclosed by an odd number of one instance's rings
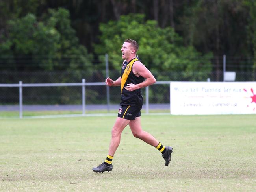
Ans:
MULTIPOLYGON (((0 59, 0 85, 22 83, 87 83, 104 82, 106 70, 66 70, 66 71, 36 71, 35 65, 26 61, 26 68, 18 65, 20 69, 13 68, 10 63, 0 59)), ((254 57, 215 57, 211 61, 212 70, 209 71, 159 71, 151 70, 159 81, 223 81, 224 63, 226 71, 236 74, 234 81, 255 81, 253 70, 254 57), (225 60, 224 60, 225 58, 225 60), (222 70, 223 69, 223 70, 222 70)), ((23 60, 22 60, 23 61, 23 60)), ((14 61, 13 61, 14 62, 14 61)), ((15 63, 12 63, 13 66, 15 63)), ((100 66, 97 63, 96 66, 100 66)), ((110 70, 109 77, 117 79, 120 70, 110 70)), ((142 89, 145 96, 145 88, 142 89)), ((110 87, 109 102, 108 91, 105 85, 86 86, 86 112, 87 113, 116 113, 120 102, 120 87, 110 87)), ((59 87, 23 87, 24 115, 35 114, 73 114, 82 112, 82 93, 79 86, 59 87), (42 112, 43 111, 43 112, 42 112)), ((144 98, 145 102, 145 98, 144 98)), ((169 84, 154 84, 148 89, 148 102, 150 112, 168 112, 170 102, 169 84)), ((144 105, 145 106, 145 105, 144 105)), ((143 108, 145 109, 145 108, 143 108)), ((0 116, 19 116, 19 87, 0 86, 0 116)))

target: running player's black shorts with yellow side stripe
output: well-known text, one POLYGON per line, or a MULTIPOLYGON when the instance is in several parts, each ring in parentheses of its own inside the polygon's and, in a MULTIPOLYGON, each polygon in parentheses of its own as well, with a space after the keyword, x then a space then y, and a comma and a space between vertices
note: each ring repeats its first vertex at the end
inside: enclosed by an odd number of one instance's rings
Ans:
POLYGON ((123 119, 134 120, 136 117, 141 116, 141 108, 130 105, 120 106, 117 116, 123 119))

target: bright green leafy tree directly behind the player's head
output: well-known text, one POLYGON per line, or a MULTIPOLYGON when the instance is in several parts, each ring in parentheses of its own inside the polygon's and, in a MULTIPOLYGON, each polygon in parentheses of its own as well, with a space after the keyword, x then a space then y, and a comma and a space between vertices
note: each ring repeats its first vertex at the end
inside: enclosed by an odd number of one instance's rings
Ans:
POLYGON ((101 43, 95 45, 95 52, 108 53, 112 68, 120 68, 121 45, 131 38, 139 43, 137 54, 151 70, 184 72, 184 77, 211 71, 211 53, 202 55, 193 46, 183 46, 182 37, 173 28, 160 28, 154 20, 145 21, 144 15, 122 15, 118 21, 100 24, 100 31, 101 43))

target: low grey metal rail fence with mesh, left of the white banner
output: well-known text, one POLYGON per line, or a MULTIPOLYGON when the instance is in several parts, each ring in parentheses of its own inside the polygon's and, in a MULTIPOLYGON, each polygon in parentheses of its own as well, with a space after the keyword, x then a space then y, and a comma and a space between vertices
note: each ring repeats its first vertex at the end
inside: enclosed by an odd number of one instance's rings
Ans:
MULTIPOLYGON (((156 84, 167 84, 167 87, 169 87, 169 81, 160 81, 156 84)), ((19 84, 0 84, 0 88, 16 89, 16 97, 11 98, 13 102, 8 105, 0 105, 0 117, 19 116, 22 118, 24 111, 25 116, 34 116, 36 114, 54 115, 56 113, 81 114, 81 110, 82 115, 85 115, 85 109, 87 113, 88 111, 91 113, 116 112, 119 109, 118 103, 121 98, 120 87, 111 87, 113 89, 106 92, 102 90, 106 90, 109 87, 106 87, 104 82, 85 83, 85 79, 82 79, 82 83, 23 84, 20 81, 19 84), (106 98, 112 99, 111 103, 109 102, 110 100, 106 101, 106 98), (85 102, 88 103, 86 104, 85 102)), ((169 88, 167 89, 166 91, 168 92, 169 88)), ((146 109, 146 113, 149 113, 149 87, 143 90, 146 90, 143 91, 146 92, 146 108, 144 109, 146 109)), ((169 111, 169 103, 163 100, 163 103, 150 104, 150 109, 159 112, 169 111)))

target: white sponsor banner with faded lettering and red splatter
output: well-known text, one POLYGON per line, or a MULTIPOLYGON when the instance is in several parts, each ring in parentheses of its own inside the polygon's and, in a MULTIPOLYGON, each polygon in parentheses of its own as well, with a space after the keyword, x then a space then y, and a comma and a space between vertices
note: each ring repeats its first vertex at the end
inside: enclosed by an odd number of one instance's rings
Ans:
POLYGON ((256 82, 171 82, 171 114, 256 114, 256 82))

